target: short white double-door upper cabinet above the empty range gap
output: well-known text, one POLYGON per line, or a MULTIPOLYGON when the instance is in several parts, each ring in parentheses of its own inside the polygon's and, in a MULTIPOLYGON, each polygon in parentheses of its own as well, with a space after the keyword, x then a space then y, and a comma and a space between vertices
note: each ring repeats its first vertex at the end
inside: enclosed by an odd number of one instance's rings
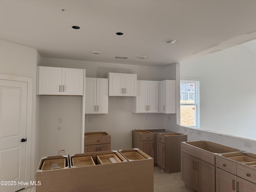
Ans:
POLYGON ((108 73, 109 96, 136 96, 137 74, 108 73))

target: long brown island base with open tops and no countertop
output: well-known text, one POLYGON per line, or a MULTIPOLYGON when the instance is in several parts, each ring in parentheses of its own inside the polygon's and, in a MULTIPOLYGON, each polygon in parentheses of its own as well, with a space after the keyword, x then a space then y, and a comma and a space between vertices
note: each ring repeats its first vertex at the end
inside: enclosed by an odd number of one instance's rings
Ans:
MULTIPOLYGON (((36 192, 153 192, 153 159, 126 149, 69 155, 70 168, 38 170, 36 192), (120 152, 119 152, 120 151, 120 152), (123 155, 127 156, 127 160, 123 155), (117 162, 111 162, 114 158, 117 162), (82 162, 80 162, 80 160, 82 162), (92 165, 92 160, 96 165, 92 165)), ((42 166, 42 159, 39 163, 42 166)))

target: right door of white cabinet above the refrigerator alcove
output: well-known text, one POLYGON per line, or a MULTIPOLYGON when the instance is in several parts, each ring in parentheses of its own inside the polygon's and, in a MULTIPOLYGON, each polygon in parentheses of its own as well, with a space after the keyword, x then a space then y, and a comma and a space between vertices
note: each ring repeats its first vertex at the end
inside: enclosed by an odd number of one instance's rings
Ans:
POLYGON ((62 68, 62 95, 83 95, 84 70, 62 68))

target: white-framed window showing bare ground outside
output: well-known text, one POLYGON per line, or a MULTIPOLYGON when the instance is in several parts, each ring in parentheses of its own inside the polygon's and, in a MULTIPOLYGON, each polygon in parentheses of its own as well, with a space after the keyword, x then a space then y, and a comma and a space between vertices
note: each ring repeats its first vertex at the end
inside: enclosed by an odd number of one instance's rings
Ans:
POLYGON ((200 127, 199 81, 180 80, 180 125, 200 127))

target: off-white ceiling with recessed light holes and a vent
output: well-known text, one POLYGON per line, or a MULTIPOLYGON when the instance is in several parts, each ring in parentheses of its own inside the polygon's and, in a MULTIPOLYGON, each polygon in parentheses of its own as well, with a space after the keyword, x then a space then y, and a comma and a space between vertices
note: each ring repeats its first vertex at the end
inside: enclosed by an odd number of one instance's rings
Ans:
POLYGON ((255 9, 254 0, 0 0, 0 38, 42 57, 166 66, 256 39, 255 9))

